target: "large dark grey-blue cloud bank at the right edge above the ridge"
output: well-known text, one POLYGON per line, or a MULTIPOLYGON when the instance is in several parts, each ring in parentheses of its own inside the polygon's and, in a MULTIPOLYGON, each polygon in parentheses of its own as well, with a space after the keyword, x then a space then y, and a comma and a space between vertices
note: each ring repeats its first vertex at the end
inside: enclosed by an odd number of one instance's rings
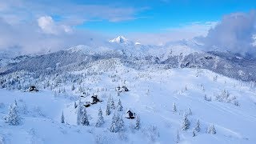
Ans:
POLYGON ((256 11, 225 15, 206 38, 202 38, 207 50, 229 50, 244 56, 256 58, 252 43, 256 33, 256 11))

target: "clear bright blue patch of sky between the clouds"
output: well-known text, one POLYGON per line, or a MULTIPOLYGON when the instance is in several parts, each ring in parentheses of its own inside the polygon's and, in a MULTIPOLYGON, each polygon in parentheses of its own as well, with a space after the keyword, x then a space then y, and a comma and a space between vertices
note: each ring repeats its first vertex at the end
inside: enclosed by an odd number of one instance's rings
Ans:
POLYGON ((106 1, 76 2, 79 5, 98 4, 130 7, 134 9, 131 19, 110 22, 101 20, 84 22, 78 28, 99 30, 107 33, 126 34, 130 32, 158 32, 184 26, 192 22, 216 22, 222 16, 234 12, 248 12, 256 1, 248 0, 166 0, 166 1, 106 1))

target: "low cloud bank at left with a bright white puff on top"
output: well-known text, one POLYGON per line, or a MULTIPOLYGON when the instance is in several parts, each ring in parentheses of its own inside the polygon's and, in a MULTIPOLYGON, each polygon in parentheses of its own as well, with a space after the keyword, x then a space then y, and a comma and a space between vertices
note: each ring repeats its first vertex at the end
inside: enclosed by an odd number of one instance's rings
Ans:
POLYGON ((41 18, 40 26, 36 21, 10 25, 0 18, 0 31, 1 51, 16 50, 25 54, 63 50, 70 46, 88 45, 92 42, 100 43, 107 39, 103 38, 101 34, 95 34, 88 30, 72 30, 70 33, 69 27, 57 25, 47 17, 41 18), (45 31, 42 32, 42 30, 45 31))

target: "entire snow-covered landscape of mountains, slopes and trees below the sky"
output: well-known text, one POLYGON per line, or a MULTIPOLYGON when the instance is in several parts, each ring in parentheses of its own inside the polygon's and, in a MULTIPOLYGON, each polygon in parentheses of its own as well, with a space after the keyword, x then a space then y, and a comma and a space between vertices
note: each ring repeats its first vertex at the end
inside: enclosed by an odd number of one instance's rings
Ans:
POLYGON ((126 40, 7 59, 0 143, 256 142, 256 62, 126 40))

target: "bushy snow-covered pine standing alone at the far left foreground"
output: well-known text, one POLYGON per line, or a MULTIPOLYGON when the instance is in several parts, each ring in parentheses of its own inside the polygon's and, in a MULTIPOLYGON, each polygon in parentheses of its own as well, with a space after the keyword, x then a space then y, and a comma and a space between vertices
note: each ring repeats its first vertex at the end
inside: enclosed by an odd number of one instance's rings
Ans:
POLYGON ((5 117, 5 121, 6 123, 9 123, 10 125, 14 125, 17 126, 18 124, 20 124, 21 118, 18 115, 18 110, 17 110, 17 102, 13 105, 9 106, 9 112, 5 117))

